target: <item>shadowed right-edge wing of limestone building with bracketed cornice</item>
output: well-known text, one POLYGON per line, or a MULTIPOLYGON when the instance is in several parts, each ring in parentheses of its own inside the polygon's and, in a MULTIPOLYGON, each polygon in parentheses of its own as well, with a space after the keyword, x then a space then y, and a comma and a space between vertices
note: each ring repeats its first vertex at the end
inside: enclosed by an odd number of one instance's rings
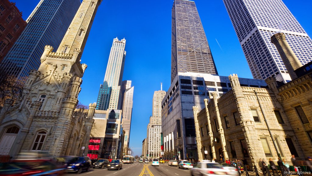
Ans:
POLYGON ((302 152, 301 159, 312 155, 312 74, 305 75, 278 88, 281 104, 294 130, 302 152), (308 122, 300 120, 295 107, 301 106, 308 122))

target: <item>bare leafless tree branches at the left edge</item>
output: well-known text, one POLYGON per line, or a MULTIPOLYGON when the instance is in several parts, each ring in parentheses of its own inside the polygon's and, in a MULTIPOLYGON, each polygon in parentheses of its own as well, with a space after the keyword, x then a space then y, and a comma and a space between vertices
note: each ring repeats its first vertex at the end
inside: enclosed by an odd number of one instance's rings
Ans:
POLYGON ((12 99, 14 102, 22 100, 23 86, 26 79, 17 79, 8 75, 0 68, 0 107, 3 107, 6 99, 12 99))

